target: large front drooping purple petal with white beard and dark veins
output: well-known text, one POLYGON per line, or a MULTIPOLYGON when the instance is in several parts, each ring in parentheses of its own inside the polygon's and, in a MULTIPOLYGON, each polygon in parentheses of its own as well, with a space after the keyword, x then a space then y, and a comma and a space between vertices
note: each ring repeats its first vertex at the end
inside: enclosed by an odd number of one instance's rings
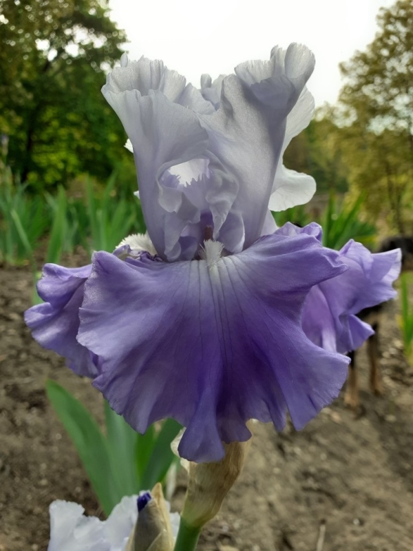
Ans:
POLYGON ((280 430, 288 409, 302 428, 337 397, 348 360, 308 340, 301 310, 310 287, 344 269, 306 235, 212 263, 96 253, 78 334, 102 362, 94 386, 141 433, 177 419, 180 455, 195 461, 248 439, 251 418, 280 430))

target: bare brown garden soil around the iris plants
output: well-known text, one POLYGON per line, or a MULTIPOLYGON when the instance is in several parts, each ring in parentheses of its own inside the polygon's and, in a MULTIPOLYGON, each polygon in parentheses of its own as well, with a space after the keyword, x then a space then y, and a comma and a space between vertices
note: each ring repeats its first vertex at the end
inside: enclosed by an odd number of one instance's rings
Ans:
MULTIPOLYGON (((32 340, 22 318, 31 284, 27 271, 0 271, 0 551, 45 550, 54 499, 100 513, 47 403, 45 379, 63 384, 98 417, 100 397, 32 340)), ((257 425, 242 477, 204 529, 201 551, 412 551, 413 371, 401 352, 396 308, 394 302, 388 309, 381 340, 385 397, 365 390, 361 351, 358 419, 341 397, 301 433, 288 428, 277 435, 257 425)))

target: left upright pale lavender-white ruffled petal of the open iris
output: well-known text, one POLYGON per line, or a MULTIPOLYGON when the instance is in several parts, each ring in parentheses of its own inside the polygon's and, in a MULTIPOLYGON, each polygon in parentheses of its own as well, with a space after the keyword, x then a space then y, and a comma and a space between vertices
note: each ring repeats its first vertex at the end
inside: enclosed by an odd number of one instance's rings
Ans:
MULTIPOLYGON (((182 256, 180 233, 200 222, 200 210, 186 197, 187 182, 169 169, 204 156, 208 135, 195 110, 207 114, 213 106, 162 61, 143 57, 125 58, 123 66, 109 74, 102 92, 133 145, 149 236, 162 258, 176 260, 182 256)), ((198 242, 183 248, 191 258, 198 242)))

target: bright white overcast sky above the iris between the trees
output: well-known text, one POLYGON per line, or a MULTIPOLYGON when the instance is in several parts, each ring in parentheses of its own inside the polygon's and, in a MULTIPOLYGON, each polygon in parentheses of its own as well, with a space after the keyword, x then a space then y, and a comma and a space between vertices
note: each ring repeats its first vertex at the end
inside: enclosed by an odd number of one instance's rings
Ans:
POLYGON ((337 98, 339 62, 374 39, 379 8, 394 1, 110 0, 110 6, 127 32, 131 59, 162 59, 197 87, 202 73, 215 78, 247 59, 268 59, 276 44, 304 43, 315 53, 308 87, 321 105, 337 98))

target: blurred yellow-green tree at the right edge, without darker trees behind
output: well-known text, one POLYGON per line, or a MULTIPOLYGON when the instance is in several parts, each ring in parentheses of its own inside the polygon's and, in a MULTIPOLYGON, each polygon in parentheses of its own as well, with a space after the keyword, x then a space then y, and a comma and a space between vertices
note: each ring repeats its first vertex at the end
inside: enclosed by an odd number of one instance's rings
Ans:
POLYGON ((412 231, 413 0, 382 8, 379 32, 365 52, 341 65, 341 150, 350 183, 366 207, 412 231))

